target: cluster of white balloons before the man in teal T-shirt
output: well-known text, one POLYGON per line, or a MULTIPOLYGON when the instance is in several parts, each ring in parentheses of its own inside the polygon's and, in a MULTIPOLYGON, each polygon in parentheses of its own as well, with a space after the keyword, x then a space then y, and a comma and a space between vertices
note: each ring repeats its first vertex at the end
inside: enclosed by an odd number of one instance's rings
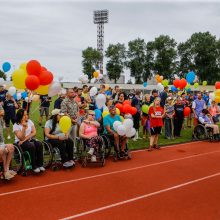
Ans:
POLYGON ((133 128, 134 123, 131 119, 125 119, 123 122, 115 121, 113 124, 114 130, 120 136, 126 135, 126 137, 133 137, 136 134, 135 128, 133 128))

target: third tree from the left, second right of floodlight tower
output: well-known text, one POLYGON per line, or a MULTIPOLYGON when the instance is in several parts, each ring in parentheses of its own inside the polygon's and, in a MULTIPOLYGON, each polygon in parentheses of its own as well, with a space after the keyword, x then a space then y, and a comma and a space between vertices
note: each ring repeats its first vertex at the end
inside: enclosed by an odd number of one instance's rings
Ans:
POLYGON ((128 42, 127 56, 129 58, 127 67, 130 69, 130 75, 135 77, 135 83, 143 83, 145 72, 145 52, 146 43, 143 39, 136 39, 128 42))

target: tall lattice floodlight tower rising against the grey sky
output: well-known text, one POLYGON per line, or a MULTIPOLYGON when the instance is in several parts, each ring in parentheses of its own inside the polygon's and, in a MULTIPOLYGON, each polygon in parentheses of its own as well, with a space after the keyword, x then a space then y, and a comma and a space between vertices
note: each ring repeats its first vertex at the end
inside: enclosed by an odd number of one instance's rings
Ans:
POLYGON ((97 50, 102 58, 99 62, 99 69, 103 74, 103 52, 104 52, 104 24, 108 23, 108 10, 96 10, 93 13, 93 22, 97 24, 97 50))

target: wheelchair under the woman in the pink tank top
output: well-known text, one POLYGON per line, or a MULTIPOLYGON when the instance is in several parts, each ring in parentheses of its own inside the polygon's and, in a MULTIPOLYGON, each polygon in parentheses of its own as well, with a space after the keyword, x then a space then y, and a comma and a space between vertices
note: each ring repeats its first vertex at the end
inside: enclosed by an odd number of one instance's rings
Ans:
MULTIPOLYGON (((101 137, 102 138, 102 137, 101 137)), ((100 164, 102 167, 105 166, 105 142, 102 139, 101 147, 99 147, 99 151, 96 152, 96 162, 91 161, 91 157, 88 154, 89 146, 86 144, 83 138, 76 138, 76 146, 75 146, 75 156, 77 160, 82 164, 82 167, 86 167, 89 163, 100 164)))

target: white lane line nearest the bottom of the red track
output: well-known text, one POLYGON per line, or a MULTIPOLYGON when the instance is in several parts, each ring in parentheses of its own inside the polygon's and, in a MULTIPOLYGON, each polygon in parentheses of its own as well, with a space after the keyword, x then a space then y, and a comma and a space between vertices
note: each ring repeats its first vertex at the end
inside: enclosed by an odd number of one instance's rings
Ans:
POLYGON ((172 187, 169 187, 169 188, 166 188, 166 189, 162 189, 162 190, 159 190, 159 191, 156 191, 156 192, 148 193, 148 194, 145 194, 145 195, 142 195, 142 196, 134 197, 132 199, 124 200, 124 201, 113 203, 113 204, 103 206, 103 207, 100 207, 100 208, 97 208, 97 209, 93 209, 93 210, 90 210, 90 211, 86 211, 86 212, 75 214, 75 215, 72 215, 72 216, 69 216, 69 217, 65 217, 65 218, 62 218, 60 220, 70 220, 70 219, 79 218, 79 217, 82 217, 82 216, 85 216, 85 215, 93 214, 93 213, 100 212, 100 211, 103 211, 103 210, 106 210, 106 209, 114 208, 116 206, 121 206, 121 205, 124 205, 124 204, 127 204, 127 203, 135 202, 137 200, 145 199, 145 198, 155 196, 155 195, 158 195, 158 194, 161 194, 161 193, 164 193, 164 192, 168 192, 168 191, 171 191, 171 190, 174 190, 174 189, 178 189, 178 188, 181 188, 181 187, 184 187, 184 186, 188 186, 188 185, 191 185, 191 184, 194 184, 194 183, 198 183, 198 182, 201 182, 203 180, 207 180, 207 179, 219 176, 219 175, 220 175, 220 173, 215 173, 215 174, 212 174, 212 175, 209 175, 209 176, 205 176, 205 177, 202 177, 202 178, 199 178, 199 179, 195 179, 195 180, 192 180, 192 181, 189 181, 189 182, 185 182, 185 183, 182 183, 182 184, 179 184, 179 185, 175 185, 175 186, 172 186, 172 187))

